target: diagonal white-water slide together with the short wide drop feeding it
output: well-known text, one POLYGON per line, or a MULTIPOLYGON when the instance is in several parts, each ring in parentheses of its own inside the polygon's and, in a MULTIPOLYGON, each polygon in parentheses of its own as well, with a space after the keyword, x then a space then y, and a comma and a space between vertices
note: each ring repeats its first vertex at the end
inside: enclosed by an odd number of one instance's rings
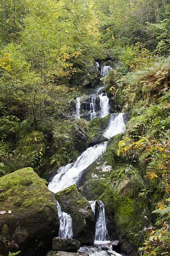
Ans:
MULTIPOLYGON (((125 131, 125 124, 123 121, 123 114, 111 114, 110 123, 103 135, 110 139, 112 136, 123 133, 125 131)), ((68 163, 66 166, 59 168, 58 173, 49 183, 50 191, 56 193, 70 185, 76 184, 82 171, 86 169, 92 162, 94 162, 100 155, 102 155, 107 148, 107 142, 97 144, 89 147, 84 151, 74 163, 68 163)))

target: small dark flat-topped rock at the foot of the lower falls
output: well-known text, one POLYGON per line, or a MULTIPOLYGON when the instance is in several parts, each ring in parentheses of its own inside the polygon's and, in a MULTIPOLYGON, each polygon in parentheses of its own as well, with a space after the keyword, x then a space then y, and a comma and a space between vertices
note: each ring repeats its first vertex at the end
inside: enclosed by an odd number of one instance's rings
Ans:
POLYGON ((54 237, 52 240, 53 251, 77 252, 80 242, 72 238, 54 237))

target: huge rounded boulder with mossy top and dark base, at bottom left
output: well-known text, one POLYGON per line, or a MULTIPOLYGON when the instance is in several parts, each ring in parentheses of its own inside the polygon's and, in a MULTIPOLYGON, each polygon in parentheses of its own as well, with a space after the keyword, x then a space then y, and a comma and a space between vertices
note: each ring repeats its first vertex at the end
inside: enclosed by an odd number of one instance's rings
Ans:
POLYGON ((8 225, 21 256, 46 255, 59 231, 56 200, 31 167, 0 178, 0 211, 0 230, 8 225))

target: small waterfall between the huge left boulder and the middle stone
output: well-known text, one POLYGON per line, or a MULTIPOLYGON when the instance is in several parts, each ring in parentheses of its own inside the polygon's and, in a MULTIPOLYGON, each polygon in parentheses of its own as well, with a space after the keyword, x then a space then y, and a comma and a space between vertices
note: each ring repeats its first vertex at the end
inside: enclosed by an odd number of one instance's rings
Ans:
POLYGON ((72 238, 72 219, 70 214, 62 211, 59 202, 56 200, 58 216, 60 221, 59 237, 72 238))

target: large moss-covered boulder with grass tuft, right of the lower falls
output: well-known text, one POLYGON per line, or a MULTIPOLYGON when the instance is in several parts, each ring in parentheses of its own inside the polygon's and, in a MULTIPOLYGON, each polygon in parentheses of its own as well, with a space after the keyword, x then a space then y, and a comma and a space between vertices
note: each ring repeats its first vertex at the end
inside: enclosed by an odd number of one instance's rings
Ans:
POLYGON ((145 188, 139 171, 124 164, 107 178, 89 179, 82 190, 88 200, 102 200, 111 240, 120 241, 121 252, 136 255, 143 243, 145 227, 151 225, 147 201, 139 197, 145 188))

